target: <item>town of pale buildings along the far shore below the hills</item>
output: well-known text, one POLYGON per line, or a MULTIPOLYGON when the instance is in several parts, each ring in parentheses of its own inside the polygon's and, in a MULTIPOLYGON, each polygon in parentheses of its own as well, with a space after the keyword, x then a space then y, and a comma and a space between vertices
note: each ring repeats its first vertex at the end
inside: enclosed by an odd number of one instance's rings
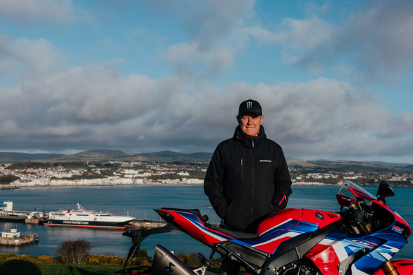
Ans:
MULTIPOLYGON (((288 163, 293 184, 340 185, 347 179, 360 185, 413 187, 412 167, 366 163, 288 163)), ((84 185, 198 184, 204 182, 207 161, 72 161, 2 163, 0 187, 84 185)))

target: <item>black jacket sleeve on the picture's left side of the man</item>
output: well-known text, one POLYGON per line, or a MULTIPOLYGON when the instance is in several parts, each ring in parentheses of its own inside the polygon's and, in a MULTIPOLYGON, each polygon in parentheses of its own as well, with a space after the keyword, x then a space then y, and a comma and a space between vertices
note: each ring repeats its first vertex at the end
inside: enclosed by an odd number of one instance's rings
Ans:
POLYGON ((209 163, 207 174, 205 175, 204 192, 220 218, 224 218, 229 207, 224 198, 224 194, 222 193, 223 184, 224 169, 222 167, 221 152, 218 145, 213 153, 211 162, 209 163))

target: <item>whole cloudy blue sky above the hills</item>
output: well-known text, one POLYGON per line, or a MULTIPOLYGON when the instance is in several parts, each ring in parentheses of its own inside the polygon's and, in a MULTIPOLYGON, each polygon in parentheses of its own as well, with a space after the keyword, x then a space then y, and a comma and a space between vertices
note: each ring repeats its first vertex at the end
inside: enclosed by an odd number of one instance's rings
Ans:
POLYGON ((213 152, 239 104, 304 160, 413 163, 413 1, 0 0, 0 152, 213 152))

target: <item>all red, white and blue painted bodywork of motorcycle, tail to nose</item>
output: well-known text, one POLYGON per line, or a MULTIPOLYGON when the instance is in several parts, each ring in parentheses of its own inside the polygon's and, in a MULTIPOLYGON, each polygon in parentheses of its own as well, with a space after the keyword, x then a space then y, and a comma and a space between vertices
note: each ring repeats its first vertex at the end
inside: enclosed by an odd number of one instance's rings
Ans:
MULTIPOLYGON (((390 207, 377 201, 377 198, 368 192, 363 192, 363 189, 357 185, 352 186, 350 183, 348 189, 357 198, 372 200, 392 213, 394 216, 393 225, 364 236, 354 235, 351 237, 348 234, 330 234, 318 244, 315 243, 315 247, 310 247, 310 251, 305 256, 310 258, 320 270, 326 270, 331 275, 339 275, 340 270, 346 272, 349 268, 352 269, 353 275, 365 274, 365 272, 372 274, 381 268, 385 261, 390 260, 406 243, 403 231, 408 225, 390 207), (395 236, 394 231, 398 232, 400 237, 395 236)), ((346 197, 346 201, 351 200, 354 198, 346 197)), ((284 252, 277 252, 279 245, 286 243, 290 245, 288 240, 292 238, 301 238, 305 234, 310 234, 341 220, 341 216, 337 213, 308 209, 286 209, 268 216, 260 223, 257 229, 257 238, 237 239, 218 231, 219 228, 214 230, 206 227, 199 215, 188 212, 188 210, 156 211, 170 214, 173 216, 173 223, 176 223, 181 230, 207 245, 231 241, 240 247, 248 246, 259 249, 269 255, 281 255, 284 252)), ((407 231, 410 232, 410 227, 407 231)))

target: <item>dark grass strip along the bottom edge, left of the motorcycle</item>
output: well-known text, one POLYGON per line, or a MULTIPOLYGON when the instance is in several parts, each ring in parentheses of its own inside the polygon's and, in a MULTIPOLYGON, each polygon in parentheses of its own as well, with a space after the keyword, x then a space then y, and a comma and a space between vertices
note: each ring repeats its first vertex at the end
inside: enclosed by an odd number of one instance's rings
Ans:
POLYGON ((122 265, 54 265, 23 260, 0 260, 1 275, 113 275, 120 269, 123 269, 122 265))

